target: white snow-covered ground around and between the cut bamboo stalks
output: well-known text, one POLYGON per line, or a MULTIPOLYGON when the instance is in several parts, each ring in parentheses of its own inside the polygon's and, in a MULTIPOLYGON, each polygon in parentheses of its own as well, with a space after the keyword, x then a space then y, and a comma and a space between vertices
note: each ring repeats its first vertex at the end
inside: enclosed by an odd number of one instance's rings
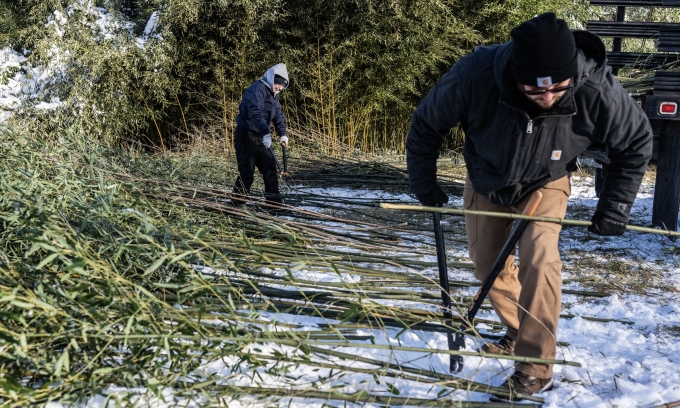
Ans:
MULTIPOLYGON (((593 180, 588 177, 574 177, 570 208, 578 208, 585 213, 594 210, 597 199, 592 187, 593 180)), ((309 191, 309 190, 307 190, 309 191)), ((314 189, 315 193, 325 196, 370 197, 372 199, 412 200, 408 196, 394 196, 381 191, 351 191, 346 189, 314 189)), ((632 222, 636 225, 651 224, 653 186, 643 185, 633 208, 632 222)), ((460 200, 450 203, 460 207, 460 200)), ((310 208, 313 209, 313 208, 310 208)), ((568 213, 567 217, 572 216, 568 213)), ((661 281, 676 290, 680 289, 680 269, 675 260, 676 246, 668 238, 655 234, 627 232, 623 237, 603 238, 589 234, 584 228, 569 228, 563 231, 561 248, 565 261, 565 282, 570 281, 570 265, 578 262, 581 254, 589 254, 606 267, 607 262, 630 263, 654 269, 661 281), (608 255, 600 256, 598 254, 608 255)), ((465 256, 465 247, 448 248, 449 260, 465 256)), ((423 260, 433 261, 432 255, 423 260)), ((463 259, 464 260, 464 259, 463 259)), ((304 271, 300 271, 304 273, 304 271)), ((631 268, 629 273, 636 273, 631 268)), ((435 276, 436 270, 431 271, 435 276)), ((309 279, 310 277, 307 276, 309 279)), ((331 276, 317 277, 319 280, 333 279, 331 276)), ((450 279, 470 280, 470 272, 450 271, 450 279)), ((566 288, 584 290, 582 283, 566 283, 566 288)), ((470 292, 471 293, 471 292, 470 292)), ((468 293, 468 294, 470 294, 468 293)), ((648 293, 612 294, 608 297, 584 297, 564 295, 563 314, 573 315, 560 319, 558 341, 568 346, 558 348, 557 359, 574 361, 581 367, 555 366, 555 387, 552 391, 540 394, 545 398, 545 407, 653 407, 663 403, 680 400, 680 296, 677 292, 650 288, 648 293), (581 316, 617 320, 600 322, 586 320, 581 316)), ((389 304, 389 303, 388 303, 389 304)), ((493 312, 480 313, 480 318, 496 319, 493 312)), ((315 328, 327 320, 293 315, 268 315, 272 321, 286 321, 300 326, 315 328)), ((496 319, 497 320, 497 319, 496 319)), ((483 330, 482 330, 483 331, 483 330)), ((373 334, 378 344, 401 345, 412 348, 446 349, 444 333, 411 331, 399 333, 394 330, 380 330, 373 334)), ((477 350, 478 345, 467 338, 467 350, 477 350)), ((410 366, 448 372, 448 357, 440 354, 423 357, 412 352, 382 351, 365 348, 344 348, 341 351, 358 356, 379 358, 384 361, 408 362, 410 366)), ((512 374, 510 361, 466 357, 466 366, 460 375, 463 378, 498 386, 512 374)), ((230 372, 224 366, 212 366, 210 371, 216 375, 230 372), (226 370, 226 372, 225 372, 226 370)), ((369 367, 369 366, 366 366, 369 367)), ((295 374, 308 381, 319 374, 300 368, 295 374)), ((252 377, 244 376, 243 384, 251 383, 252 377)), ((281 386, 264 381, 262 385, 281 386)), ((304 382, 304 381, 303 381, 304 382)), ((344 392, 358 390, 376 392, 381 386, 370 375, 345 377, 332 383, 342 387, 344 392)), ((291 384, 289 384, 290 386, 291 384)), ((393 387, 400 395, 413 398, 435 398, 441 388, 431 384, 414 384, 410 381, 395 380, 393 387)), ((389 394, 387 388, 386 394, 389 394)), ((476 392, 457 391, 450 398, 472 401, 487 401, 488 395, 476 392)), ((293 406, 323 406, 323 401, 292 400, 293 406)), ((242 401, 243 403, 243 401, 242 401)), ((253 401, 253 403, 255 403, 253 401)), ((283 403, 282 403, 283 404, 283 403)), ((248 405, 248 404, 244 404, 248 405)), ((255 403, 255 405, 257 405, 255 403)), ((373 406, 373 405, 363 405, 373 406)), ((376 404, 375 406, 379 406, 376 404)))

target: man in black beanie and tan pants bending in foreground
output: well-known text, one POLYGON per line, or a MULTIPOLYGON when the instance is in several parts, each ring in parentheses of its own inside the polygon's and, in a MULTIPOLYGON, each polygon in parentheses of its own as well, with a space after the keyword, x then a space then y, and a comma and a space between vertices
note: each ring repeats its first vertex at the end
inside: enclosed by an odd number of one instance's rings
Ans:
MULTIPOLYGON (((652 154, 652 131, 643 110, 606 65, 604 44, 587 31, 571 31, 554 13, 515 27, 504 44, 476 47, 462 57, 413 113, 406 141, 409 185, 424 205, 448 196, 436 181, 443 138, 460 124, 465 132, 466 210, 520 213, 541 191, 535 215, 563 218, 571 193, 569 174, 588 147, 611 159, 588 228, 625 232, 630 208, 652 154)), ((512 220, 466 215, 475 276, 484 280, 507 239, 512 220)), ((531 222, 518 242, 519 267, 510 256, 489 300, 507 331, 482 349, 554 359, 561 308, 560 225, 531 222)), ((518 362, 501 385, 511 397, 553 386, 550 364, 518 362)))

